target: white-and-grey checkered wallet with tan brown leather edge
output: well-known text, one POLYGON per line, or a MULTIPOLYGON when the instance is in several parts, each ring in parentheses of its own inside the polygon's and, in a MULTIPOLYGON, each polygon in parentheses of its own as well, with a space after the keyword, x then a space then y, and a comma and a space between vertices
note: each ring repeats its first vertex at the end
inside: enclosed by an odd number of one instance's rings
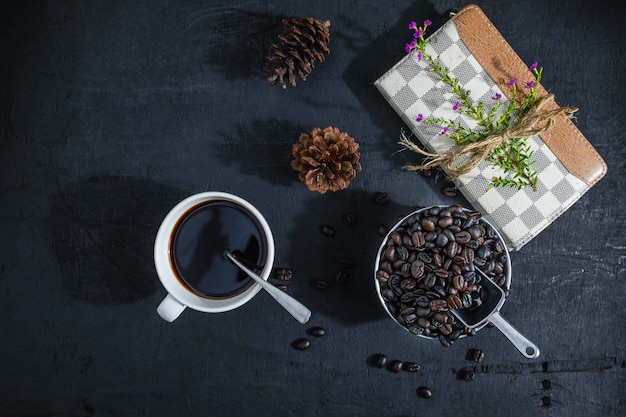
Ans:
MULTIPOLYGON (((485 103, 486 111, 489 103, 495 104, 491 97, 496 94, 506 107, 505 98, 511 97, 507 81, 517 74, 531 76, 528 66, 475 5, 464 7, 433 33, 427 39, 426 52, 439 56, 471 92, 472 99, 485 103)), ((452 89, 427 67, 413 52, 375 85, 427 150, 441 153, 452 148, 454 142, 440 135, 441 127, 418 123, 418 114, 454 120, 469 128, 475 128, 477 123, 453 110, 452 89)), ((524 81, 520 76, 520 82, 524 81)), ((542 86, 537 91, 547 94, 542 86)), ((533 168, 539 174, 537 190, 490 188, 491 178, 503 172, 487 161, 456 181, 469 203, 498 228, 511 249, 519 249, 530 241, 606 173, 602 158, 565 117, 548 133, 533 136, 528 142, 534 150, 533 168)))

